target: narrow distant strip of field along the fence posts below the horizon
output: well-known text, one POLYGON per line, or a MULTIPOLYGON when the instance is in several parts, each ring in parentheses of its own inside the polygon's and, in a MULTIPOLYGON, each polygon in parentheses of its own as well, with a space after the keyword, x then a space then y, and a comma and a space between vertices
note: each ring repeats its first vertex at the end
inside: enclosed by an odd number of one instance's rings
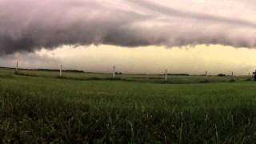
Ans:
MULTIPOLYGON (((0 72, 13 73, 14 70, 0 69, 0 72)), ((18 70, 19 75, 43 77, 43 78, 59 78, 58 71, 44 70, 18 70)), ((112 74, 97 73, 74 73, 62 72, 62 78, 74 80, 111 80, 112 74)), ((250 76, 195 76, 195 75, 168 75, 165 82, 165 74, 115 74, 115 80, 131 81, 131 82, 155 82, 170 84, 189 84, 189 83, 214 83, 214 82, 244 82, 250 81, 250 76)))

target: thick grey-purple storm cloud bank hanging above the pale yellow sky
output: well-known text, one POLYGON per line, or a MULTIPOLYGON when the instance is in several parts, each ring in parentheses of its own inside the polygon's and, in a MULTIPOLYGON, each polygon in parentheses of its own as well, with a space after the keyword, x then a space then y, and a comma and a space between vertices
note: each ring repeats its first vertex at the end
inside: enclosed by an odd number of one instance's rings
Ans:
POLYGON ((256 19, 249 15, 255 12, 249 5, 244 10, 246 2, 234 0, 234 10, 229 10, 230 3, 220 7, 218 3, 225 2, 216 0, 200 4, 198 11, 172 7, 176 2, 186 8, 183 0, 168 1, 167 6, 162 2, 0 0, 0 53, 90 44, 256 46, 256 19), (224 15, 206 14, 202 6, 219 9, 224 15))

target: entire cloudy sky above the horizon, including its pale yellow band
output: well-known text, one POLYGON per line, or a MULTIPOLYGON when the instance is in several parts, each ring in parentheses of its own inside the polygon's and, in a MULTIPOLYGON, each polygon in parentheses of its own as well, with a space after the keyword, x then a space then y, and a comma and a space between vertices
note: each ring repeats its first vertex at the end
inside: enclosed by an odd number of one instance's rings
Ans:
POLYGON ((248 74, 254 0, 0 0, 0 66, 248 74))

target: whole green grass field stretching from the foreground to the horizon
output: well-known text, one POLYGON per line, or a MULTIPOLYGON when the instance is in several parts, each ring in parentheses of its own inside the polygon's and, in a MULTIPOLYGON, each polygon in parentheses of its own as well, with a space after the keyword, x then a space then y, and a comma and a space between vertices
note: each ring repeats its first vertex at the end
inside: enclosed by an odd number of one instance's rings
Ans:
POLYGON ((249 77, 63 76, 0 70, 2 143, 256 142, 249 77))

